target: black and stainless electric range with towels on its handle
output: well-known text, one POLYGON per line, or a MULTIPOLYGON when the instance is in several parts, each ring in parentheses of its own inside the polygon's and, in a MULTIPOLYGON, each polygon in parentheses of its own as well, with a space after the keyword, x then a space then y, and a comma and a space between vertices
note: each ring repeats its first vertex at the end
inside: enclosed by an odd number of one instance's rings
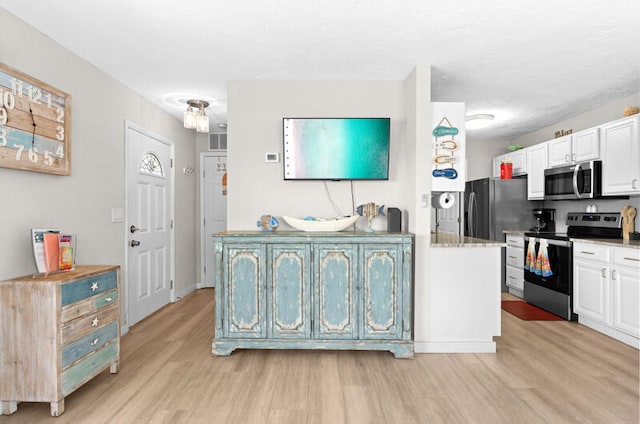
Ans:
POLYGON ((567 232, 526 232, 524 300, 567 320, 573 313, 573 245, 571 239, 621 239, 618 212, 570 212, 567 232))

